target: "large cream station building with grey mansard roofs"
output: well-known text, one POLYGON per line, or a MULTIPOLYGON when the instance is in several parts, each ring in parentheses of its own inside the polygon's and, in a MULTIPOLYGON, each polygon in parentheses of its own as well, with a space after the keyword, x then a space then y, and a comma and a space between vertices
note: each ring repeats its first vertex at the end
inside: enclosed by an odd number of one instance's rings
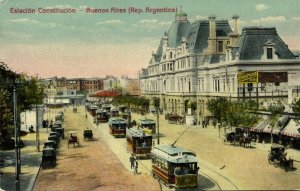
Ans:
POLYGON ((209 115, 210 98, 293 99, 298 91, 300 60, 274 27, 245 27, 239 18, 190 23, 180 11, 160 39, 147 68, 140 74, 141 94, 159 98, 160 109, 186 114, 194 102, 197 118, 209 115), (289 82, 291 85, 289 85, 289 82), (298 89, 297 89, 298 88, 298 89))

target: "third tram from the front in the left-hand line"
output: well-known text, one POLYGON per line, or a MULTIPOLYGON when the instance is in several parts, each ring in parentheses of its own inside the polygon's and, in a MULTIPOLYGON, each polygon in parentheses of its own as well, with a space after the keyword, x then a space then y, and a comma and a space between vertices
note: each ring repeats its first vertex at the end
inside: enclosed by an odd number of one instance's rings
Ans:
POLYGON ((111 117, 108 120, 109 131, 114 137, 125 137, 127 121, 120 117, 111 117))

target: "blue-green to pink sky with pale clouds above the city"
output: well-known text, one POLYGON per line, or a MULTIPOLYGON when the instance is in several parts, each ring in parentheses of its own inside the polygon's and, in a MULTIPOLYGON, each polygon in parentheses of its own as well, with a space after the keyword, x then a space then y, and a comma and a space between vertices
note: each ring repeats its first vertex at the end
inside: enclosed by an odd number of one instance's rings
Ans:
POLYGON ((191 23, 215 15, 231 24, 238 15, 240 31, 276 27, 291 50, 300 50, 300 0, 0 0, 0 61, 41 78, 137 78, 175 20, 174 12, 153 14, 147 7, 182 9, 191 23), (76 12, 39 12, 51 8, 76 12))

